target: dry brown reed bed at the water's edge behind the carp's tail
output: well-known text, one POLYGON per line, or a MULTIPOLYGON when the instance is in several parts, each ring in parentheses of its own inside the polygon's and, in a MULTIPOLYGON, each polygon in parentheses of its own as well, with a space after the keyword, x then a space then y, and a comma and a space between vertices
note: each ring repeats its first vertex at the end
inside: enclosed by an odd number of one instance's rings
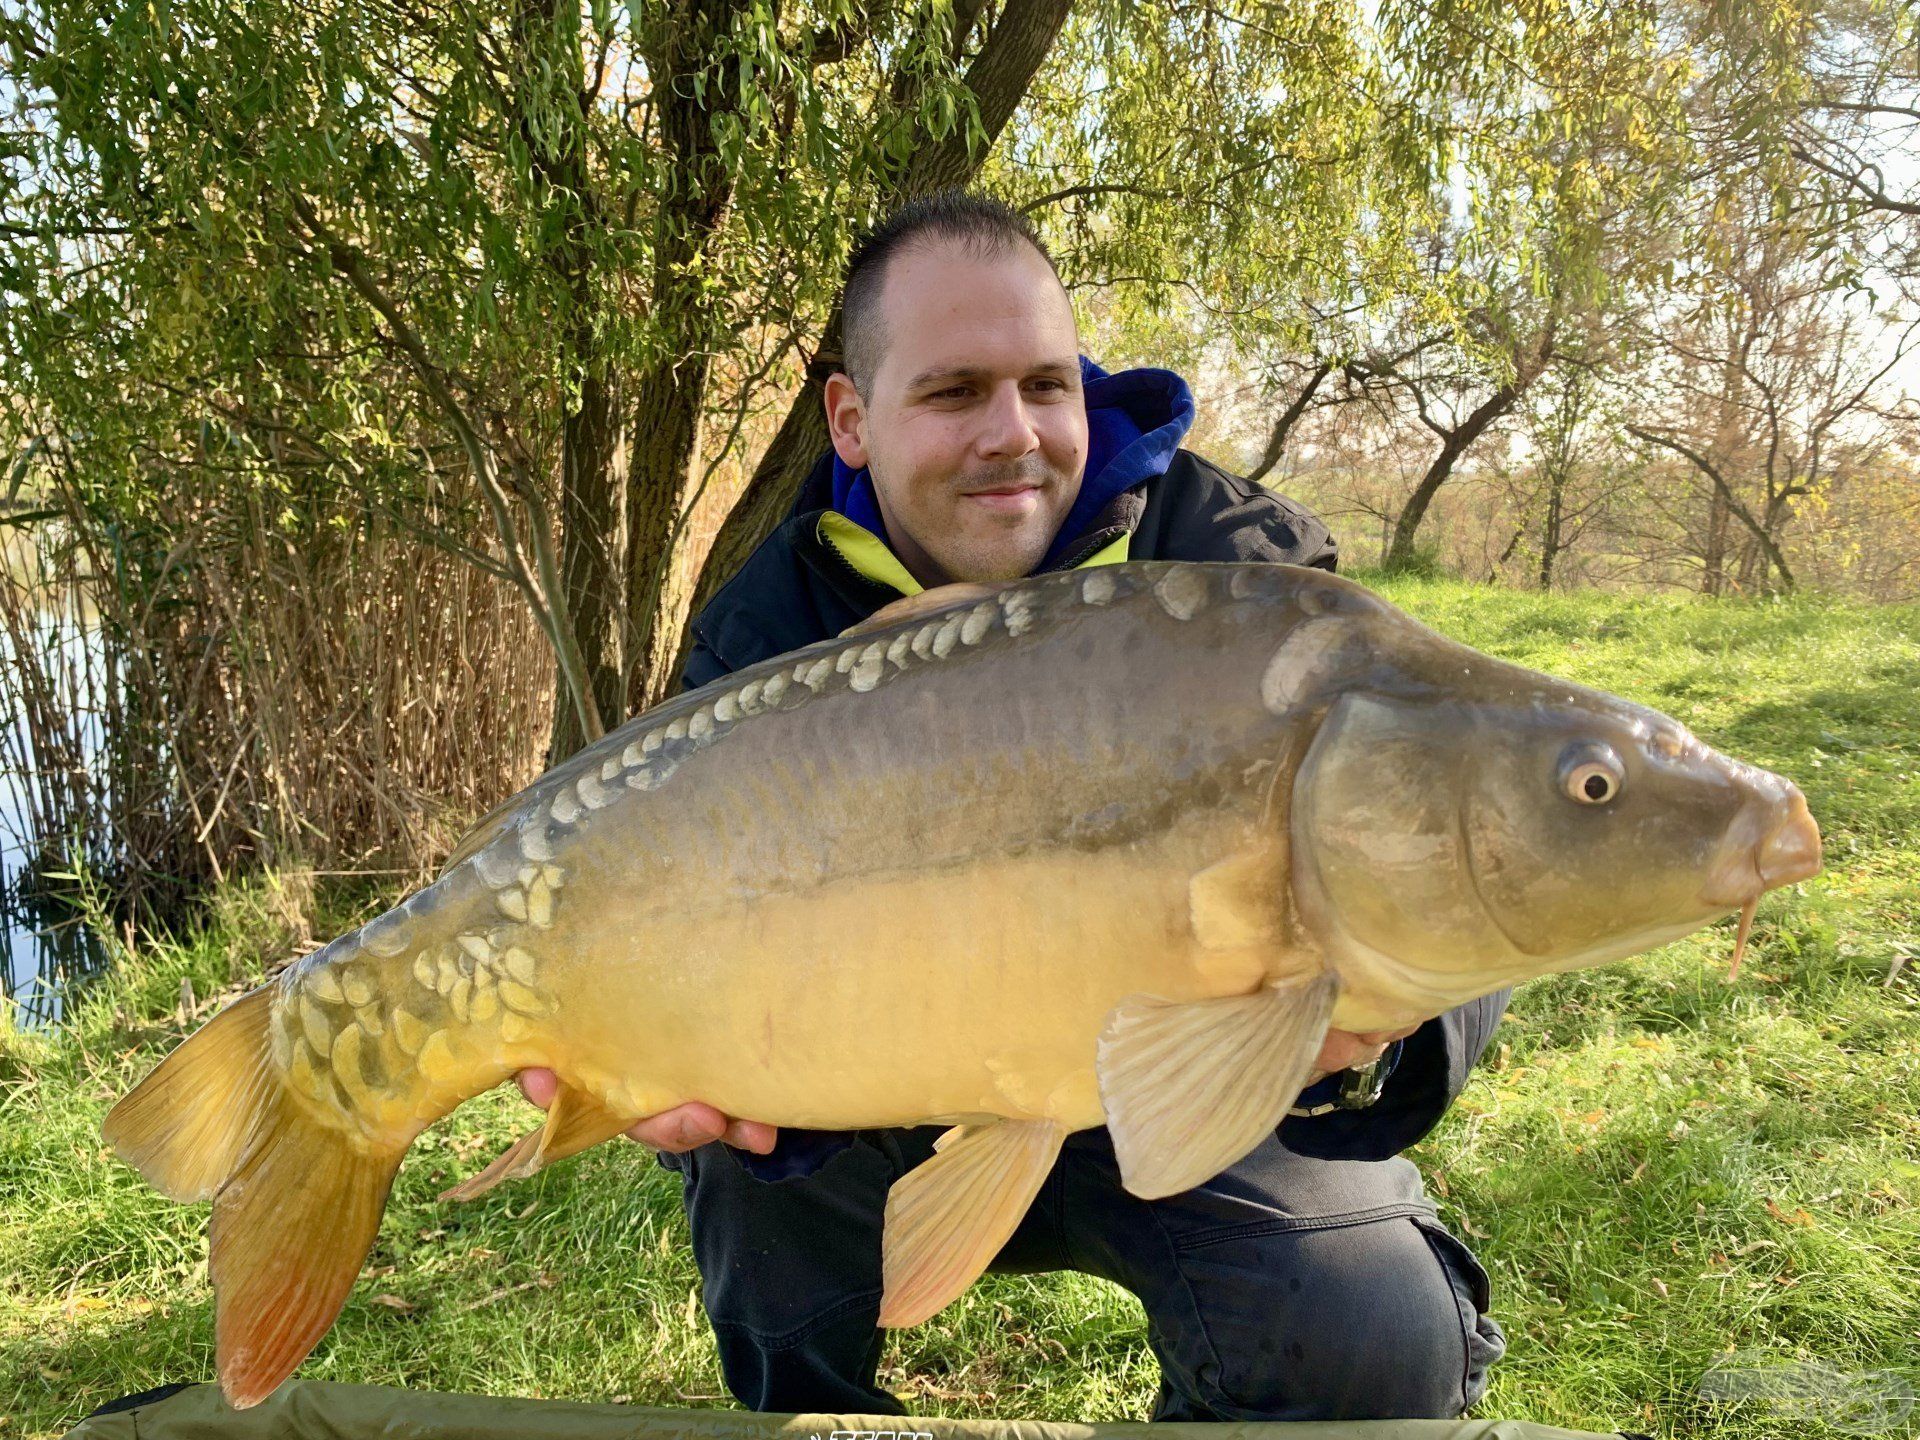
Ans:
POLYGON ((411 885, 540 770, 551 651, 453 553, 484 522, 436 545, 192 470, 134 522, 58 463, 40 480, 0 568, 0 764, 36 874, 127 922, 259 868, 411 885))

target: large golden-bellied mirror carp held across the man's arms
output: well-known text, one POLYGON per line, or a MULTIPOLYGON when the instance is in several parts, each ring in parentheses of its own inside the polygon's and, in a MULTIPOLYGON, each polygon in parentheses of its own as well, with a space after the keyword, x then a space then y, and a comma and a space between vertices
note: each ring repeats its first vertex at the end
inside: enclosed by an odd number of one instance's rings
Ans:
POLYGON ((213 1198, 219 1375, 269 1394, 413 1139, 563 1081, 476 1194, 685 1100, 950 1123, 883 1325, 960 1294, 1064 1137, 1165 1196, 1273 1131, 1329 1025, 1400 1029, 1818 870, 1801 793, 1359 586, 1133 563, 726 676, 541 776, 438 881, 215 1016, 108 1116, 213 1198))

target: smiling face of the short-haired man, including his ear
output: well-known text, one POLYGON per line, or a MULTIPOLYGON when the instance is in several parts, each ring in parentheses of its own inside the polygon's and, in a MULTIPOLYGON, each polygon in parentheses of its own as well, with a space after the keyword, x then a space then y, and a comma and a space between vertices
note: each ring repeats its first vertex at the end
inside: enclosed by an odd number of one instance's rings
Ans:
POLYGON ((1087 397, 1073 307, 1029 246, 893 257, 872 396, 828 380, 833 447, 868 467, 887 538, 924 586, 1014 580, 1079 495, 1087 397))

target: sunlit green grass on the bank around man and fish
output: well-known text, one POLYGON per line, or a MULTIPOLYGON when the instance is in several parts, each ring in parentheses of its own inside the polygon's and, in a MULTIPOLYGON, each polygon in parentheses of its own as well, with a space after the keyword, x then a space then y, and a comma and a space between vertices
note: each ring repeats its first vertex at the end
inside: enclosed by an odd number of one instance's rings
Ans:
MULTIPOLYGON (((1920 607, 1377 584, 1448 634, 1782 770, 1828 837, 1826 874, 1763 904, 1734 985, 1718 925, 1524 987, 1413 1152, 1492 1271, 1509 1336, 1475 1413, 1726 1440, 1857 1434, 1697 1388, 1755 1348, 1920 1388, 1920 607)), ((104 1150, 100 1117, 188 1027, 182 979, 211 995, 234 970, 257 973, 273 918, 246 895, 223 897, 198 933, 123 956, 60 1031, 0 1031, 8 1440, 211 1373, 205 1212, 148 1190, 104 1150)), ((326 935, 372 897, 321 902, 326 935)), ((361 1284, 301 1373, 730 1405, 680 1181, 641 1148, 436 1204, 528 1114, 495 1092, 422 1137, 361 1284)), ((1140 1325, 1104 1281, 989 1277, 893 1332, 881 1382, 929 1415, 1140 1419, 1156 1384, 1140 1325)))

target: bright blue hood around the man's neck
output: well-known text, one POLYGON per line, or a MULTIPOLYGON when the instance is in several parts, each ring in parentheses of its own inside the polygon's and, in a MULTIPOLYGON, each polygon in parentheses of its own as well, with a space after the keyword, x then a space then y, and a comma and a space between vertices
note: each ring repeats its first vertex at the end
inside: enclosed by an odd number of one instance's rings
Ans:
MULTIPOLYGON (((1116 495, 1164 474, 1194 422, 1192 390, 1173 371, 1142 367, 1108 374, 1085 355, 1079 363, 1087 394, 1087 468, 1079 495, 1041 559, 1041 570, 1058 561, 1116 495)), ((874 478, 866 467, 856 470, 835 451, 814 465, 793 509, 833 509, 876 536, 887 534, 874 478)))

